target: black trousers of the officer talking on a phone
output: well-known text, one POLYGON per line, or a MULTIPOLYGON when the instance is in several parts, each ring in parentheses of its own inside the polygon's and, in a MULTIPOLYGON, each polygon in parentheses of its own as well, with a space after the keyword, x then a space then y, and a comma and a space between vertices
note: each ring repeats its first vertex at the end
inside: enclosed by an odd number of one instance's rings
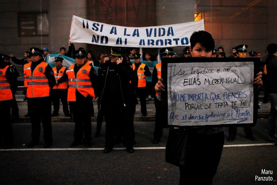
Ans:
POLYGON ((114 138, 119 134, 122 135, 126 148, 133 147, 134 126, 128 122, 128 108, 118 103, 106 103, 102 106, 106 122, 105 147, 113 148, 114 138))

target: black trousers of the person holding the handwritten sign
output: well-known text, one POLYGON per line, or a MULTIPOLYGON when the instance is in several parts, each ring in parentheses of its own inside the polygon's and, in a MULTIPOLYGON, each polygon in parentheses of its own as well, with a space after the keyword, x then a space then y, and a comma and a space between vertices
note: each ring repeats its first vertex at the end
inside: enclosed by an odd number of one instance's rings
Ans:
POLYGON ((212 184, 220 161, 224 132, 190 134, 186 165, 179 167, 180 184, 212 184))

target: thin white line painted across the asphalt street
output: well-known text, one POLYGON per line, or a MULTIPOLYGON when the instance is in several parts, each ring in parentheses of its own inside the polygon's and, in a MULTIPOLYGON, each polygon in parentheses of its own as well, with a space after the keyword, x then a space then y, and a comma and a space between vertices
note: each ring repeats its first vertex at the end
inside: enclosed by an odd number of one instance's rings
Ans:
MULTIPOLYGON (((251 146, 270 146, 274 143, 224 145, 224 147, 251 147, 251 146)), ((165 147, 134 147, 135 150, 156 150, 165 147)), ((72 150, 104 150, 104 148, 24 148, 24 149, 0 149, 0 151, 72 151, 72 150)), ((113 148, 113 150, 126 150, 126 148, 113 148)))

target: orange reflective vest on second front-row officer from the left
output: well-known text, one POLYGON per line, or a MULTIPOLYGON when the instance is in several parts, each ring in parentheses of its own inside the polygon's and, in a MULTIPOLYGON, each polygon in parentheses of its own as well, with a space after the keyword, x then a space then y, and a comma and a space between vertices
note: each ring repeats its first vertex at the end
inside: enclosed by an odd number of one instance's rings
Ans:
POLYGON ((47 77, 44 75, 45 68, 48 65, 46 62, 38 64, 33 73, 31 72, 31 64, 25 64, 25 74, 27 79, 27 93, 28 98, 48 97, 50 94, 50 87, 47 77))

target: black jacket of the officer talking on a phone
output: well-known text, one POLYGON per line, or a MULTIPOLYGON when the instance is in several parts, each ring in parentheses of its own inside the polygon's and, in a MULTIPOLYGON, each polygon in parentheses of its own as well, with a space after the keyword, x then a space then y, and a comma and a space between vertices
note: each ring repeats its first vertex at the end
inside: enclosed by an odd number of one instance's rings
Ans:
POLYGON ((119 103, 125 107, 130 106, 138 84, 137 79, 129 62, 105 62, 98 70, 100 104, 108 103, 113 106, 114 103, 119 103))

